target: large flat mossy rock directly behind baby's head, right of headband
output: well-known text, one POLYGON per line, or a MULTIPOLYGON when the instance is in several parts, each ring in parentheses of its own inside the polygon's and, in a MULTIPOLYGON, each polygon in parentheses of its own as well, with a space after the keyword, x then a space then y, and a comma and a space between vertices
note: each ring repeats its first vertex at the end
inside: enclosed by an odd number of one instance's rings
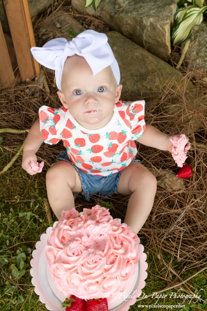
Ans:
POLYGON ((122 93, 125 96, 135 95, 134 100, 160 94, 160 88, 168 85, 171 80, 171 89, 174 90, 185 83, 180 72, 120 33, 110 31, 106 35, 119 64, 120 83, 123 84, 122 93))

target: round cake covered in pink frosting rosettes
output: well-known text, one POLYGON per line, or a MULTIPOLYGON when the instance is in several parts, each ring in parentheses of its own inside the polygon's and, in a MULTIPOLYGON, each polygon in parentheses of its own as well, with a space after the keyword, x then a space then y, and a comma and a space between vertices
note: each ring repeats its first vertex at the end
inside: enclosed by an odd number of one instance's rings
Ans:
POLYGON ((56 287, 83 299, 113 298, 127 289, 139 259, 137 234, 105 207, 63 211, 46 256, 56 287))

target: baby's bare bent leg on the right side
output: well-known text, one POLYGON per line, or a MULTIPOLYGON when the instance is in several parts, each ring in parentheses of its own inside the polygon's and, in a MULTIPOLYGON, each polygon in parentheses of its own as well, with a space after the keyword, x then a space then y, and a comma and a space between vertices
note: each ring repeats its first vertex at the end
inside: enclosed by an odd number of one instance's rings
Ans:
POLYGON ((156 178, 138 162, 131 162, 120 174, 117 193, 131 197, 124 222, 138 233, 152 209, 157 189, 156 178))

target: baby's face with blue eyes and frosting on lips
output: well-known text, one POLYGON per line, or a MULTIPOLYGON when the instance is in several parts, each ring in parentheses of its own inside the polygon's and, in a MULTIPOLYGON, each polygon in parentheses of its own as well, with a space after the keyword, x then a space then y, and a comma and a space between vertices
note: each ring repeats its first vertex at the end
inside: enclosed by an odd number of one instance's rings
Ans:
POLYGON ((58 96, 75 120, 87 129, 104 127, 111 119, 122 85, 116 86, 111 67, 95 76, 85 58, 74 55, 65 62, 58 96))

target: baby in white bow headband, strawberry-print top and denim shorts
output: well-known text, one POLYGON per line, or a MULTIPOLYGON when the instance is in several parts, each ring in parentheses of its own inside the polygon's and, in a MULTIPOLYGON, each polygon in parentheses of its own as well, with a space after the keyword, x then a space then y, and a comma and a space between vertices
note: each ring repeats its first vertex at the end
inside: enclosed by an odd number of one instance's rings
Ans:
POLYGON ((62 107, 42 106, 39 119, 25 141, 22 167, 43 142, 60 140, 61 152, 46 174, 49 203, 56 217, 74 205, 73 193, 90 200, 92 194, 130 195, 124 222, 138 233, 154 202, 155 176, 135 160, 135 141, 172 152, 172 136, 144 121, 144 100, 120 100, 120 72, 105 34, 86 30, 72 41, 53 39, 31 49, 42 65, 54 69, 62 107))

